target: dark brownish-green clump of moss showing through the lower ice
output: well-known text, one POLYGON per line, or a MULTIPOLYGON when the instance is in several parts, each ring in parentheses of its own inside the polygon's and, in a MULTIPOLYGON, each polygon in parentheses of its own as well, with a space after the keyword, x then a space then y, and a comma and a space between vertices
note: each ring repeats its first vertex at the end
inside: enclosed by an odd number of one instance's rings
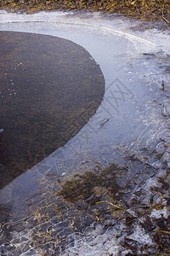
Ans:
POLYGON ((105 168, 102 172, 84 172, 74 175, 71 180, 62 184, 59 195, 66 201, 76 202, 78 200, 87 200, 89 196, 99 199, 105 193, 111 197, 116 196, 120 187, 116 184, 116 172, 118 167, 112 165, 105 168), (105 190, 104 190, 105 189, 105 190))

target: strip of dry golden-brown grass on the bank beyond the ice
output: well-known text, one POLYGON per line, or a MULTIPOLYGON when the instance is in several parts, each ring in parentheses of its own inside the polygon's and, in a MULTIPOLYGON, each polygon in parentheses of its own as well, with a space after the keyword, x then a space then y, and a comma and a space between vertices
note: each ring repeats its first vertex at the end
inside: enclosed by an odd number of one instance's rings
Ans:
POLYGON ((26 12, 54 9, 88 9, 116 13, 141 20, 164 20, 169 24, 169 0, 2 0, 1 9, 26 12))

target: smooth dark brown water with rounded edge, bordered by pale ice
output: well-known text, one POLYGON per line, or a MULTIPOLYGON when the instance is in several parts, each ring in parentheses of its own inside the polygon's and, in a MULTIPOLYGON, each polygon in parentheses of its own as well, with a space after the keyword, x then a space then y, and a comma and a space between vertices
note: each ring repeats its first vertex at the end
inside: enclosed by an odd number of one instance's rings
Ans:
POLYGON ((0 32, 0 188, 63 146, 103 99, 99 65, 69 40, 0 32))

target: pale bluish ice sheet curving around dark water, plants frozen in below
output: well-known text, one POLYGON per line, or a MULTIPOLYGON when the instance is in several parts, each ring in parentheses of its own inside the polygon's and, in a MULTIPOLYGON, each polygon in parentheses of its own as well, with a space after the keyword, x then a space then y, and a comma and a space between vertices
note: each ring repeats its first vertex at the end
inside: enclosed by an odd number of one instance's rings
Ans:
MULTIPOLYGON (((160 207, 150 186, 164 196, 156 177, 167 172, 169 162, 168 35, 153 30, 137 37, 131 30, 135 21, 99 14, 3 13, 1 19, 2 31, 53 35, 81 45, 105 78, 103 101, 77 135, 1 190, 3 250, 137 255, 141 249, 153 254, 160 240, 155 233, 148 235, 147 223, 158 228, 157 222, 146 221, 144 214, 151 214, 151 200, 160 207), (111 173, 105 171, 108 166, 111 173), (72 183, 65 183, 71 178, 72 183), (69 189, 75 191, 75 201, 69 189), (116 212, 113 205, 122 209, 116 212)), ((74 131, 75 121, 71 126, 74 131)))

